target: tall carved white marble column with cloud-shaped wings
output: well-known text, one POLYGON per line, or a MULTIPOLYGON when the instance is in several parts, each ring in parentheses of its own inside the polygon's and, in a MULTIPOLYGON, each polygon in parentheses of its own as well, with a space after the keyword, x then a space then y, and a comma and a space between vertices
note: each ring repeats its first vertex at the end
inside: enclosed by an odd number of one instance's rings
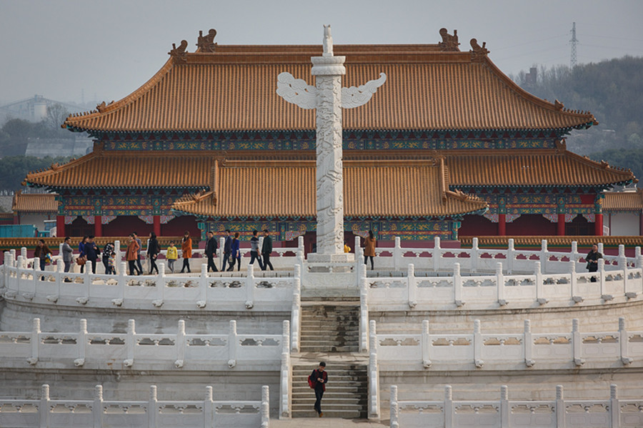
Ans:
MULTIPOLYGON (((345 56, 334 56, 330 26, 324 25, 324 52, 312 56, 311 74, 316 86, 284 72, 277 76, 276 93, 302 109, 316 109, 316 212, 317 252, 327 262, 340 262, 344 254, 344 179, 342 165, 342 108, 366 104, 387 80, 342 88, 345 56), (326 260, 327 259, 327 260, 326 260)), ((321 259, 320 259, 321 261, 321 259)))

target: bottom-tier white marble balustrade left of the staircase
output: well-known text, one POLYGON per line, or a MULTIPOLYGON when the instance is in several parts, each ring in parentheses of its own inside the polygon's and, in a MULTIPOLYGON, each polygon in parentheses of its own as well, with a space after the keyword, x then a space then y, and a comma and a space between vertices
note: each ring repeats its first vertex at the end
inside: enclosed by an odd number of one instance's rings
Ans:
POLYGON ((96 385, 93 399, 51 399, 49 385, 41 387, 40 399, 1 399, 0 427, 6 428, 268 428, 269 389, 261 388, 261 401, 218 401, 206 387, 199 401, 161 401, 156 386, 149 388, 146 401, 103 399, 96 385))

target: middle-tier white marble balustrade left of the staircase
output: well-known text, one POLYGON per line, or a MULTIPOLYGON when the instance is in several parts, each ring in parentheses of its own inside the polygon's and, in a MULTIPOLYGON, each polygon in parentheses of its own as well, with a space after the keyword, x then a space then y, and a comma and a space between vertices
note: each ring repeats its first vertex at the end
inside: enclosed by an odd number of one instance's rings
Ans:
POLYGON ((0 332, 0 367, 277 371, 289 334, 287 321, 283 334, 239 334, 236 321, 227 332, 186 334, 183 320, 176 334, 149 334, 133 319, 126 333, 88 332, 85 319, 76 332, 42 332, 35 318, 31 332, 0 332))

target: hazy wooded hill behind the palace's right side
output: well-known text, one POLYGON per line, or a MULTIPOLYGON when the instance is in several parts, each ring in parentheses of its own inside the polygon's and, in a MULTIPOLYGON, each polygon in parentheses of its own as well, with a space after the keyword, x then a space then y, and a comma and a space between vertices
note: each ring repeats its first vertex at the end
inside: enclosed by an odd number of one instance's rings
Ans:
POLYGON ((599 125, 574 131, 567 148, 595 160, 632 169, 643 179, 643 57, 624 56, 569 69, 554 66, 511 76, 540 98, 568 109, 589 110, 599 125))

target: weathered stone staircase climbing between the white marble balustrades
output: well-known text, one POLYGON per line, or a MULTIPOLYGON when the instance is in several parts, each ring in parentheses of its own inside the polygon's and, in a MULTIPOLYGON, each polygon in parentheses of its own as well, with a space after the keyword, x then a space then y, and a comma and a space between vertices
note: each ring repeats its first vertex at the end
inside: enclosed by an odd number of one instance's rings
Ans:
POLYGON ((359 306, 355 302, 302 302, 302 358, 292 367, 292 417, 317 416, 315 393, 307 379, 325 361, 329 384, 321 400, 324 417, 366 418, 368 366, 354 357, 352 353, 357 352, 359 306))

